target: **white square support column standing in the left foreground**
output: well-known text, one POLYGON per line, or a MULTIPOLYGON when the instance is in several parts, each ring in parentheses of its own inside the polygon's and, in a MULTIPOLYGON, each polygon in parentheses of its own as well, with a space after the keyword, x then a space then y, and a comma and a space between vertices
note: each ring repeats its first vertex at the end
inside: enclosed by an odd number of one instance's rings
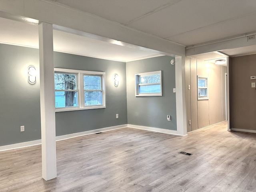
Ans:
POLYGON ((42 178, 57 177, 52 24, 40 23, 40 108, 42 135, 42 178))

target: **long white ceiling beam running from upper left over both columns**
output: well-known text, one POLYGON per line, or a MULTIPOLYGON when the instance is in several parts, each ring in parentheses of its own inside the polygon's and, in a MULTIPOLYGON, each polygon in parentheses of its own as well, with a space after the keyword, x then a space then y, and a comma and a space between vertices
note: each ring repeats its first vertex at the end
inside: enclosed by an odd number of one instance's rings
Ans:
POLYGON ((1 0, 0 11, 136 45, 138 48, 157 50, 162 54, 185 55, 185 46, 50 0, 1 0))

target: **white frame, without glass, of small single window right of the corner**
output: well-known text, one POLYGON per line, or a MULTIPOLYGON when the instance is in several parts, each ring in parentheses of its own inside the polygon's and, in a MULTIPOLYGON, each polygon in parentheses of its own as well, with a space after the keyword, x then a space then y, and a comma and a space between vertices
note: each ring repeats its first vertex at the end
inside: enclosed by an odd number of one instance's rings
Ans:
POLYGON ((135 96, 136 97, 162 96, 162 71, 160 70, 160 71, 152 71, 152 72, 135 74, 135 96), (160 83, 139 84, 140 83, 140 77, 159 75, 159 74, 160 74, 160 83), (160 90, 161 90, 160 93, 139 93, 139 86, 154 85, 154 84, 160 84, 160 90))

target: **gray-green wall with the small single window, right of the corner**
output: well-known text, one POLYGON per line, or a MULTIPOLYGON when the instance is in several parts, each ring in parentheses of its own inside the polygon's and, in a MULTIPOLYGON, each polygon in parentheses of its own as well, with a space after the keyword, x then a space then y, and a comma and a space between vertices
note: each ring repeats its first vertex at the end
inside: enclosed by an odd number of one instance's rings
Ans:
POLYGON ((174 57, 160 56, 126 63, 128 124, 177 130, 174 57), (162 96, 136 97, 137 73, 162 70, 162 96), (171 116, 167 121, 166 116, 171 116))

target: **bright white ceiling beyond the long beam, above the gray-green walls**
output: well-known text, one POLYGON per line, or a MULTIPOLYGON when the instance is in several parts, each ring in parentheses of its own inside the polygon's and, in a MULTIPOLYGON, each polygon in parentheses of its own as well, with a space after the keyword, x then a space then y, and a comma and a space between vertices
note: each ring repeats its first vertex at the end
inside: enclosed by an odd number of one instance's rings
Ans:
MULTIPOLYGON (((0 43, 38 48, 38 26, 0 18, 0 43)), ((160 56, 156 52, 120 46, 58 30, 53 31, 54 50, 95 58, 128 62, 160 56)))

